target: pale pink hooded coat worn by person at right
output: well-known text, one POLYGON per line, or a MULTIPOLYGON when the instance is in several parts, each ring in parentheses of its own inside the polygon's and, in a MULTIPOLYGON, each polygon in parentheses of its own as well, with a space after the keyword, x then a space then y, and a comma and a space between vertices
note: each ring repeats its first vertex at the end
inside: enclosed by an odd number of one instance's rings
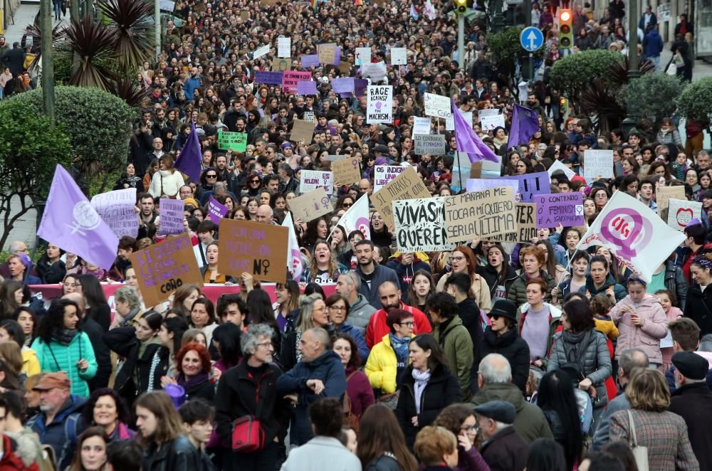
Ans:
POLYGON ((619 331, 616 359, 619 358, 622 351, 638 348, 648 355, 651 363, 662 364, 660 339, 667 335, 668 319, 657 296, 646 294, 636 308, 628 295, 611 309, 610 315, 619 331), (642 327, 632 324, 631 311, 645 319, 645 324, 642 327))

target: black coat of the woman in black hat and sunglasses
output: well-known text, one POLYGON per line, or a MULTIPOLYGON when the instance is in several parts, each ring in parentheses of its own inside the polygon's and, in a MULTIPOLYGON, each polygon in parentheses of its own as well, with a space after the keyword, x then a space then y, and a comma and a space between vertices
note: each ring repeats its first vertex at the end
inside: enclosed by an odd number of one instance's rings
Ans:
POLYGON ((480 361, 488 354, 501 354, 508 359, 512 367, 512 383, 525 391, 529 378, 529 345, 519 337, 516 330, 509 330, 501 337, 497 337, 491 327, 487 327, 479 347, 475 362, 472 364, 472 371, 478 370, 480 361))

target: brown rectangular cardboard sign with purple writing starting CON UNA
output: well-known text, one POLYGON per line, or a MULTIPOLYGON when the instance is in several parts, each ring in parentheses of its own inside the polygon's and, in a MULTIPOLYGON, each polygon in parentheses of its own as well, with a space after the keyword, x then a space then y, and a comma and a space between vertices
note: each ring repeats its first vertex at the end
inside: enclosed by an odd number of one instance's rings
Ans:
POLYGON ((288 238, 286 227, 221 219, 218 271, 236 277, 247 272, 255 280, 283 283, 288 238))

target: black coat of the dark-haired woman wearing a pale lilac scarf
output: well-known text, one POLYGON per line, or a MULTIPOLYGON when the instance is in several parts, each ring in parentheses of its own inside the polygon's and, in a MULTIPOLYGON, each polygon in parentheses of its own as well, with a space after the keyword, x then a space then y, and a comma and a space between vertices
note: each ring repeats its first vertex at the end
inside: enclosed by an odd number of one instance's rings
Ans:
POLYGON ((462 391, 457 378, 447 366, 439 364, 431 371, 430 381, 420 396, 420 413, 415 408, 415 380, 412 376, 413 366, 409 365, 403 371, 400 396, 396 407, 398 423, 405 434, 409 448, 413 448, 415 435, 418 431, 433 423, 441 411, 450 404, 462 402, 462 391), (414 426, 411 418, 418 416, 418 426, 414 426))

